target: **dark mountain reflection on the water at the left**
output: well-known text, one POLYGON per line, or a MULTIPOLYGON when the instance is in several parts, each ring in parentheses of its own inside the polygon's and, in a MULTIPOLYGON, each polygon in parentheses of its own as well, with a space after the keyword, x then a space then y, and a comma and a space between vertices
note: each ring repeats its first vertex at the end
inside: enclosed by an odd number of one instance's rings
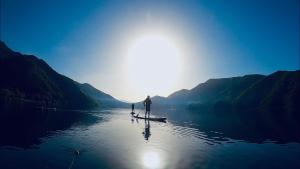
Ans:
POLYGON ((42 143, 41 138, 66 130, 75 123, 94 124, 100 120, 87 112, 59 109, 37 109, 36 107, 14 107, 0 109, 0 147, 16 146, 31 148, 42 143))

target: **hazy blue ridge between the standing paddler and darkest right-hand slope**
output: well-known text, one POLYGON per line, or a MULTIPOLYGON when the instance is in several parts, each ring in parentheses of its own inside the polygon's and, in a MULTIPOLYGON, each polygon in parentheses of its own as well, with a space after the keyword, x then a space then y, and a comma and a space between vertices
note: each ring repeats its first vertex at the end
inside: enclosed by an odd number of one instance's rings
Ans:
POLYGON ((242 91, 264 77, 264 75, 246 75, 243 77, 209 79, 190 90, 181 89, 168 97, 159 97, 159 99, 153 97, 152 102, 157 102, 156 107, 195 109, 203 108, 203 106, 211 107, 220 101, 231 102, 242 91))

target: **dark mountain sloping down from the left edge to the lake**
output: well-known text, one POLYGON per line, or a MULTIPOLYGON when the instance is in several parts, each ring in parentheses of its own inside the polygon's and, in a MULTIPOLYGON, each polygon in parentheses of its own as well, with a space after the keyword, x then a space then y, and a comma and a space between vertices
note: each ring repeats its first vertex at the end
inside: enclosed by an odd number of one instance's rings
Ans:
POLYGON ((85 109, 97 103, 74 80, 45 61, 9 49, 0 41, 0 102, 18 100, 40 106, 85 109))

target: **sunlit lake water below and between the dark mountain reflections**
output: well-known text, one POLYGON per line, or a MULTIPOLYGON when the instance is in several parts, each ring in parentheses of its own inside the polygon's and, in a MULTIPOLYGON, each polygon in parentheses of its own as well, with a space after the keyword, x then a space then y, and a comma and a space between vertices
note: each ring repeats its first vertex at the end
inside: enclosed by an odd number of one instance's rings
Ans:
POLYGON ((137 120, 129 113, 129 109, 84 112, 69 127, 32 142, 27 136, 14 138, 16 144, 2 142, 0 168, 300 168, 297 141, 238 127, 222 132, 211 123, 217 117, 195 112, 155 113, 168 117, 166 123, 137 120), (18 144, 25 141, 26 146, 18 144))

